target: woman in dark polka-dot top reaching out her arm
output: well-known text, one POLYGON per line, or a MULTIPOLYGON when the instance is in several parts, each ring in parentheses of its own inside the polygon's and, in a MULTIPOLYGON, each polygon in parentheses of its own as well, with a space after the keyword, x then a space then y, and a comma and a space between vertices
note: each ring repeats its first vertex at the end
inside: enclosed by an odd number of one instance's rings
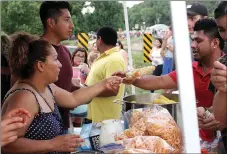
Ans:
POLYGON ((2 148, 8 153, 67 154, 74 152, 83 140, 78 135, 64 134, 58 106, 75 108, 93 97, 117 92, 120 77, 110 77, 91 87, 69 93, 53 83, 58 80, 61 63, 54 47, 45 40, 29 41, 28 34, 13 40, 10 64, 19 80, 4 99, 2 115, 15 108, 31 114, 27 125, 18 131, 18 139, 2 148))

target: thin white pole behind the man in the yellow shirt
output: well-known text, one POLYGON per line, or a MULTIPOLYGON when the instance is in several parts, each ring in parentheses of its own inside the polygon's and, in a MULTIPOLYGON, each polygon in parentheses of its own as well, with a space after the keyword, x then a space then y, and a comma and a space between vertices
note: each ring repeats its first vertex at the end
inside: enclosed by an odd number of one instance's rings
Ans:
MULTIPOLYGON (((126 28, 126 34, 127 34, 129 69, 131 70, 133 68, 133 64, 132 64, 132 49, 131 49, 131 39, 130 39, 129 24, 128 24, 128 10, 127 10, 126 3, 127 3, 126 1, 123 1, 124 17, 125 17, 125 28, 126 28)), ((132 94, 134 95, 135 93, 136 93, 135 87, 132 85, 132 94)))

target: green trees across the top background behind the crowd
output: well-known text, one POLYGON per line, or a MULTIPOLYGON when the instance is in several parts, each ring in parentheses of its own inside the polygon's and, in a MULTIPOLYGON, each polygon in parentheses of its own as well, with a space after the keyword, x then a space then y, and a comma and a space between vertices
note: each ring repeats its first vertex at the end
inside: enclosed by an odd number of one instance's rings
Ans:
MULTIPOLYGON (((193 1, 188 1, 191 4, 193 1)), ((40 35, 42 24, 39 18, 39 7, 41 1, 1 1, 1 25, 7 34, 16 31, 26 31, 40 35)), ((213 17, 214 9, 218 1, 201 1, 208 7, 209 16, 213 17)), ((70 1, 72 5, 72 19, 75 25, 74 34, 78 32, 97 31, 98 28, 108 25, 125 28, 123 6, 118 1, 93 1, 91 6, 95 7, 93 13, 82 14, 85 2, 70 1)), ((146 26, 162 23, 171 24, 170 5, 165 1, 144 1, 128 9, 129 25, 132 29, 135 24, 146 26)))

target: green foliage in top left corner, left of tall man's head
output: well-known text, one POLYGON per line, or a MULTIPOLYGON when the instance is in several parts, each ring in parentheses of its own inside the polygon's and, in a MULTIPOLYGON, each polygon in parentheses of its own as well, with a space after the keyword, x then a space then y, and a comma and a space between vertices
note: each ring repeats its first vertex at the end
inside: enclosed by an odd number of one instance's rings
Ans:
POLYGON ((33 34, 42 33, 42 25, 39 19, 41 2, 4 1, 1 3, 2 30, 7 34, 16 31, 26 31, 33 34))

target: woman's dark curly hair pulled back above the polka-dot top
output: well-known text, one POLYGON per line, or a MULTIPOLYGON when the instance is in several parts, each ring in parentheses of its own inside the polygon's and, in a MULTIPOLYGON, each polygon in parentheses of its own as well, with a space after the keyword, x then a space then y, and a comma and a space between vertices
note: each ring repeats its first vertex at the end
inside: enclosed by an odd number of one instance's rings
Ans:
POLYGON ((14 34, 12 38, 9 58, 12 74, 21 79, 28 79, 34 74, 37 61, 46 61, 51 44, 28 33, 14 34))

